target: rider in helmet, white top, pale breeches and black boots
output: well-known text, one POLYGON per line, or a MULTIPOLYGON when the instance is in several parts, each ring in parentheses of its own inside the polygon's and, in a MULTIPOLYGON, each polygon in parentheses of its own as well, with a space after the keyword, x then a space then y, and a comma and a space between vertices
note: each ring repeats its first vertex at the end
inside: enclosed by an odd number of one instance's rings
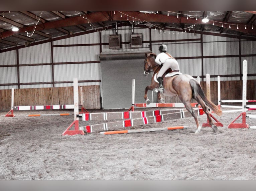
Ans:
POLYGON ((157 81, 159 83, 159 88, 163 89, 163 74, 170 68, 172 72, 179 72, 178 62, 170 54, 168 54, 167 46, 161 45, 159 47, 160 54, 157 55, 155 62, 159 65, 163 64, 162 68, 157 74, 157 81))

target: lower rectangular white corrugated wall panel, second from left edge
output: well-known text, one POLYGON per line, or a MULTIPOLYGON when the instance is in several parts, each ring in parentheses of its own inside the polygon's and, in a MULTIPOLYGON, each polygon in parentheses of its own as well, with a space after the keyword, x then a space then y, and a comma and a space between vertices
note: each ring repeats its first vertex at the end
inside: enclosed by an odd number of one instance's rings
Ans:
POLYGON ((51 66, 20 67, 20 83, 52 82, 51 66))

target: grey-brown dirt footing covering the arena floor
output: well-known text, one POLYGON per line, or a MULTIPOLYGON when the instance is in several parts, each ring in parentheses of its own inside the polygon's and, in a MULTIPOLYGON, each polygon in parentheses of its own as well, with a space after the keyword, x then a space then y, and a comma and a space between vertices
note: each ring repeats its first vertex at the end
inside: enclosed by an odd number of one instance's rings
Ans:
MULTIPOLYGON (((240 112, 216 116, 224 127, 216 133, 204 127, 199 134, 194 134, 193 117, 135 127, 188 129, 62 136, 74 115, 25 116, 60 112, 67 111, 14 111, 15 117, 0 112, 0 180, 256 179, 256 129, 227 128, 240 112)), ((199 121, 206 122, 206 115, 199 121)), ((247 118, 247 123, 256 125, 256 119, 247 118)))

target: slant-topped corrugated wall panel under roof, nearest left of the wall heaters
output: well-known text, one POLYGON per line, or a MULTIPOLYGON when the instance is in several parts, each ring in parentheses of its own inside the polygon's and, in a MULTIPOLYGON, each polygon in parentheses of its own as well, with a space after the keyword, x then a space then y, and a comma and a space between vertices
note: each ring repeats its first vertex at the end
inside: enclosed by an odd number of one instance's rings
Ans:
POLYGON ((99 32, 53 41, 53 45, 77 45, 100 43, 99 32))

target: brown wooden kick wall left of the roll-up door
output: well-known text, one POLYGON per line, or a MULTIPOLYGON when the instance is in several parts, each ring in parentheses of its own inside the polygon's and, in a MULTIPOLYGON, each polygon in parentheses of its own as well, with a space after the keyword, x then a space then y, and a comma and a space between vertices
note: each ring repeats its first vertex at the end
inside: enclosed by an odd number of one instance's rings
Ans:
MULTIPOLYGON (((100 109, 100 86, 79 86, 83 88, 84 107, 100 109)), ((0 110, 11 109, 11 90, 0 90, 0 110)), ((14 89, 14 106, 23 105, 69 105, 74 104, 73 87, 14 89)))

